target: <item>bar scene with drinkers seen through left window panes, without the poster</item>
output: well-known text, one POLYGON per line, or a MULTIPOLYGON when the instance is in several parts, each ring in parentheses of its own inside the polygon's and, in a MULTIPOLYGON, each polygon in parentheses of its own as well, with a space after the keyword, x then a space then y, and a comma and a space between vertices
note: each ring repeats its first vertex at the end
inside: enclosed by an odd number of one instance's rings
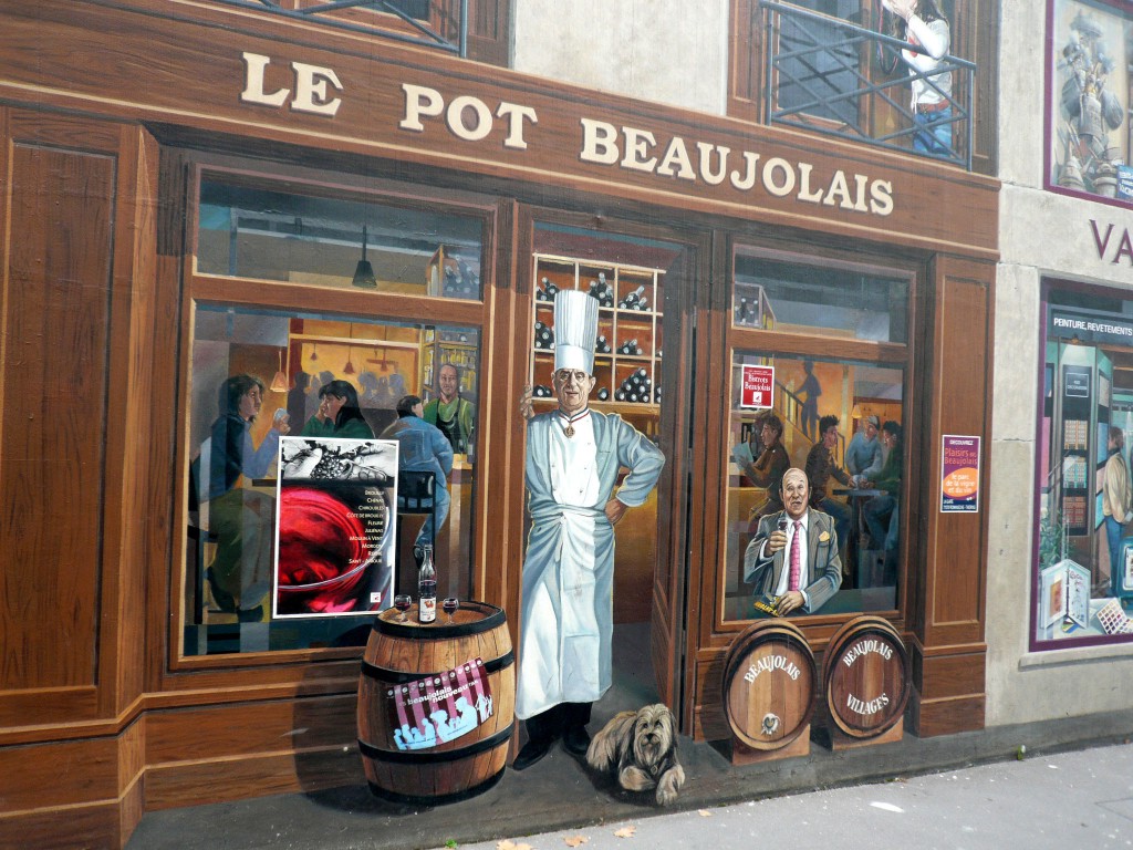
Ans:
MULTIPOLYGON (((477 219, 205 179, 197 267, 478 298, 480 228, 477 219)), ((468 326, 196 303, 187 364, 186 655, 365 643, 349 618, 271 617, 276 469, 289 435, 330 440, 323 449, 395 441, 398 499, 392 488, 384 496, 382 533, 399 546, 387 578, 415 583, 414 547, 428 543, 441 589, 470 594, 479 339, 468 326)), ((358 462, 351 457, 347 466, 358 462)), ((375 589, 380 606, 398 589, 375 589)))

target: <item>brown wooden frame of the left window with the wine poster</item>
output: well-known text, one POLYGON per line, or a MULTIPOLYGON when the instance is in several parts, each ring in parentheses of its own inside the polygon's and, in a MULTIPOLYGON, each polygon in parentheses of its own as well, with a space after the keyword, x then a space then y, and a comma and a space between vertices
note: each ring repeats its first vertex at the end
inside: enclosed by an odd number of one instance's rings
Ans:
MULTIPOLYGON (((374 179, 349 172, 310 170, 301 165, 278 162, 261 162, 238 155, 207 154, 198 152, 168 152, 170 161, 181 169, 184 218, 177 222, 179 241, 184 246, 180 254, 180 292, 177 296, 179 315, 178 354, 176 365, 177 390, 174 430, 174 493, 172 504, 172 543, 169 585, 169 615, 167 617, 168 654, 167 663, 171 672, 190 672, 223 669, 241 669, 264 665, 293 664, 310 661, 343 661, 357 658, 361 647, 309 647, 296 649, 269 649, 255 652, 225 653, 218 655, 186 655, 184 634, 188 618, 185 594, 189 580, 186 559, 188 556, 188 486, 189 465, 194 447, 190 445, 190 403, 194 312, 197 304, 210 306, 233 306, 264 308, 273 312, 318 313, 327 317, 351 317, 389 321, 403 324, 421 324, 427 316, 436 315, 444 306, 446 325, 476 329, 479 334, 482 386, 488 380, 488 350, 491 343, 489 288, 495 277, 496 245, 499 230, 499 206, 494 199, 472 193, 429 187, 423 196, 421 187, 374 179), (255 278, 229 277, 197 271, 197 235, 199 192, 202 181, 208 177, 230 176, 241 185, 262 186, 278 192, 310 194, 326 198, 343 198, 355 202, 372 202, 390 206, 427 209, 479 219, 480 229, 480 298, 453 299, 442 296, 417 296, 397 292, 381 292, 360 289, 337 289, 309 283, 262 280, 255 278)), ((163 196, 176 192, 165 180, 163 196)), ((169 198, 173 201, 173 198, 169 198)), ((172 206, 172 204, 171 204, 172 206)), ((477 457, 484 456, 484 433, 477 435, 477 457)), ((478 517, 484 500, 485 484, 478 481, 474 486, 470 516, 478 517)), ((471 586, 482 593, 486 576, 479 553, 484 549, 485 529, 476 522, 471 529, 472 542, 469 552, 471 586)))

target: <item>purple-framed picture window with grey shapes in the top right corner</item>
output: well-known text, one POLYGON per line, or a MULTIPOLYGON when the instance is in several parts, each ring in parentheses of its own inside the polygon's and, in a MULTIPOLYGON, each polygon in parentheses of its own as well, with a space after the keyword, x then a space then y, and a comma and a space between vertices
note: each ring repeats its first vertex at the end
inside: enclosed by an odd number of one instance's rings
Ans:
POLYGON ((1133 7, 1050 0, 1048 186, 1133 204, 1133 7))

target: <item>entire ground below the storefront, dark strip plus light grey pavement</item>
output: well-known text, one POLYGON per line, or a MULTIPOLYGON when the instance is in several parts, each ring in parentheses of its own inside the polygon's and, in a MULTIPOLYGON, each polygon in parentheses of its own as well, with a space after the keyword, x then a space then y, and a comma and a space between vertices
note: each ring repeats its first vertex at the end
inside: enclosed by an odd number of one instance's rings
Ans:
MULTIPOLYGON (((917 848, 1038 850, 1060 847, 1064 836, 1072 836, 1070 845, 1076 848, 1125 847, 1114 842, 1133 836, 1133 822, 1126 817, 1133 809, 1133 747, 1113 745, 1127 742, 1131 734, 1133 709, 939 738, 906 734, 895 743, 855 750, 832 751, 816 741, 806 758, 746 766, 733 766, 712 745, 681 739, 688 783, 673 809, 689 813, 684 817, 692 841, 724 828, 717 826, 717 818, 724 817, 717 814, 724 811, 719 807, 740 802, 735 816, 741 819, 731 828, 744 842, 751 842, 753 833, 756 840, 790 840, 792 850, 818 847, 821 836, 824 850, 832 845, 832 838, 835 847, 900 847, 895 842, 906 839, 909 830, 925 830, 904 844, 917 848), (1015 760, 1020 746, 1029 751, 1023 762, 1015 760), (979 767, 989 763, 998 764, 979 767), (1108 767, 1098 766, 1102 764, 1108 767), (938 771, 946 773, 913 779, 938 771), (1005 783, 1000 777, 1007 776, 1019 779, 1005 783), (971 797, 961 793, 968 788, 973 789, 971 797), (749 801, 760 802, 748 806, 749 801), (713 817, 700 816, 700 809, 712 811, 713 817), (846 831, 857 830, 858 821, 870 826, 850 840, 846 831), (883 836, 876 832, 883 825, 896 832, 875 841, 883 836), (990 842, 996 835, 998 843, 965 840, 965 826, 976 828, 980 841, 990 842), (1108 838, 1110 833, 1117 838, 1108 838), (811 843, 800 843, 800 834, 809 835, 811 843), (1022 835, 1028 838, 1017 838, 1022 835)), ((478 797, 432 808, 376 799, 361 780, 360 760, 357 774, 344 776, 343 787, 337 789, 151 811, 128 847, 408 850, 437 848, 450 840, 462 847, 477 841, 494 847, 500 839, 555 830, 597 842, 604 832, 590 825, 621 822, 637 825, 638 835, 650 835, 654 845, 675 845, 668 842, 665 826, 672 823, 668 810, 594 776, 560 747, 523 773, 508 770, 497 785, 478 797)), ((721 839, 715 833, 713 847, 735 845, 721 839)), ((536 847, 547 850, 565 843, 560 836, 536 847)))

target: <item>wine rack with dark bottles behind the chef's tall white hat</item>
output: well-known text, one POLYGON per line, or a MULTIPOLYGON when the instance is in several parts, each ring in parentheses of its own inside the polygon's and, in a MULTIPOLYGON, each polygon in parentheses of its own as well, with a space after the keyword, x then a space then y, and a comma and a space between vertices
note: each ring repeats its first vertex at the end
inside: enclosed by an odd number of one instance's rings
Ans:
POLYGON ((554 296, 579 289, 598 301, 590 402, 656 413, 662 398, 664 277, 661 269, 536 254, 530 365, 536 400, 554 398, 554 296))

